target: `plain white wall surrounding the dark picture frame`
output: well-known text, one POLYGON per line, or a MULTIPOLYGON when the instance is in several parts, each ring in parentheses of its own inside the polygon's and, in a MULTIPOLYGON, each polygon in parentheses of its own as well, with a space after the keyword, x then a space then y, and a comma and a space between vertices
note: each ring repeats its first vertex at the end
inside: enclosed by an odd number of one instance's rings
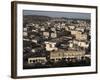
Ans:
MULTIPOLYGON (((100 5, 99 4, 100 0, 31 0, 31 1, 79 4, 79 5, 100 5)), ((11 73, 10 72, 11 70, 10 69, 11 68, 10 66, 11 65, 11 11, 10 11, 11 8, 10 7, 11 7, 11 0, 0 0, 0 80, 13 80, 10 78, 10 73, 11 73)), ((99 6, 99 10, 100 10, 100 6, 99 6)), ((100 30, 100 27, 98 27, 98 30, 100 30)), ((98 31, 98 35, 99 34, 100 32, 98 31)), ((100 37, 98 37, 98 41, 100 41, 100 37)), ((98 47, 100 47, 99 44, 100 42, 98 42, 98 47)), ((100 54, 98 55, 98 57, 100 57, 100 54)), ((99 61, 100 59, 98 60, 98 64, 99 61)), ((100 67, 100 64, 98 65, 98 67, 100 67)), ((86 80, 86 79, 100 80, 99 76, 100 76, 100 69, 98 74, 60 76, 60 77, 49 77, 49 78, 44 77, 44 78, 34 78, 34 80, 40 80, 40 79, 41 80, 56 80, 56 79, 58 80, 86 80)), ((26 80, 33 80, 33 78, 26 79, 26 80)))

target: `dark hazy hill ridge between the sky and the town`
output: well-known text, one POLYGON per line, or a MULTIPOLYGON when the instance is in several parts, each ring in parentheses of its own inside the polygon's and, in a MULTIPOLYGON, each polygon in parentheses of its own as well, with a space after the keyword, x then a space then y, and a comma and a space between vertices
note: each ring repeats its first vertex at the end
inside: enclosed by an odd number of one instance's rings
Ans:
POLYGON ((23 22, 24 24, 27 23, 39 23, 39 22, 45 22, 50 21, 54 19, 62 19, 63 20, 87 20, 90 21, 90 19, 79 19, 79 18, 65 18, 65 17, 49 17, 49 16, 43 16, 43 15, 24 15, 23 16, 23 22))

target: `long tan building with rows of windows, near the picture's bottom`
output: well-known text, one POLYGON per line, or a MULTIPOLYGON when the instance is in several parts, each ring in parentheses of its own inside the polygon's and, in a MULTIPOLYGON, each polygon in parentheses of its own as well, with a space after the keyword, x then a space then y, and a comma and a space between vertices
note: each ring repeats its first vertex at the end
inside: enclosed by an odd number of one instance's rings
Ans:
POLYGON ((58 51, 52 51, 50 53, 50 59, 54 60, 55 62, 58 60, 61 60, 63 58, 76 58, 81 59, 81 57, 85 56, 85 51, 64 51, 64 50, 58 50, 58 51))

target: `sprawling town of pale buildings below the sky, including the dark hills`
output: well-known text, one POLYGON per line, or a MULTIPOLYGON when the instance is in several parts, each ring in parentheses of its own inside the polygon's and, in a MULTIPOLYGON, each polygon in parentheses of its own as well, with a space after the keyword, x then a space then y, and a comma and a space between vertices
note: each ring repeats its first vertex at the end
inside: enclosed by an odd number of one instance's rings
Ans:
POLYGON ((47 15, 23 18, 23 69, 91 65, 90 21, 47 15))

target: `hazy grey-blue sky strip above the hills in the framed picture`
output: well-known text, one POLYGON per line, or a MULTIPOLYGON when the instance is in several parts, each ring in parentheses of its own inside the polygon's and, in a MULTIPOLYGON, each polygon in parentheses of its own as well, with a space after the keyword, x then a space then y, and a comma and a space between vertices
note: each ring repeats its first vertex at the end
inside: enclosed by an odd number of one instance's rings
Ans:
POLYGON ((36 10, 23 10, 24 15, 43 15, 49 17, 66 17, 66 18, 80 18, 90 19, 90 13, 76 13, 76 12, 57 12, 57 11, 36 11, 36 10))

